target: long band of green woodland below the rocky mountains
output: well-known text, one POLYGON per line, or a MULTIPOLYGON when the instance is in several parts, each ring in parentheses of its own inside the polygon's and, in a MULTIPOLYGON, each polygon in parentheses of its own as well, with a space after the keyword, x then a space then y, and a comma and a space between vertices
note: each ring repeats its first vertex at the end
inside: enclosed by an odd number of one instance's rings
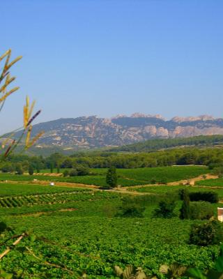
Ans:
POLYGON ((33 169, 77 168, 79 165, 89 168, 116 167, 162 167, 169 165, 208 165, 210 169, 223 166, 223 150, 212 149, 172 149, 152 153, 109 153, 88 152, 76 153, 74 156, 63 156, 54 153, 47 158, 43 156, 12 155, 7 161, 0 162, 3 172, 15 171, 17 163, 27 171, 29 165, 33 169))

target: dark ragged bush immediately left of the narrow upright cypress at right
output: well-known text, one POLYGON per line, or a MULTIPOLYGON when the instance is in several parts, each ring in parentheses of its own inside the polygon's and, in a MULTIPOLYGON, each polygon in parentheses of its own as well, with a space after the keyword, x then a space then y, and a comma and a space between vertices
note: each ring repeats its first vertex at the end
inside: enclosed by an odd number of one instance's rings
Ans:
POLYGON ((176 202, 172 199, 162 200, 159 202, 159 207, 153 213, 154 218, 172 218, 176 216, 174 209, 176 202))

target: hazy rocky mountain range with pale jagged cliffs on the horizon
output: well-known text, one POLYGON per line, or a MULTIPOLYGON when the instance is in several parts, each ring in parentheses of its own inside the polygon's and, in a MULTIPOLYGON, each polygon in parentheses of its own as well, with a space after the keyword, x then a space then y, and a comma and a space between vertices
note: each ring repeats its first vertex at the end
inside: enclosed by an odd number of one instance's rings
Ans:
MULTIPOLYGON (((38 147, 60 146, 93 149, 122 146, 155 138, 194 137, 197 135, 223 135, 223 119, 212 116, 174 117, 166 120, 158 115, 118 115, 112 119, 98 116, 57 119, 33 126, 33 135, 40 130, 45 134, 38 147)), ((17 134, 17 136, 19 133, 17 134)))

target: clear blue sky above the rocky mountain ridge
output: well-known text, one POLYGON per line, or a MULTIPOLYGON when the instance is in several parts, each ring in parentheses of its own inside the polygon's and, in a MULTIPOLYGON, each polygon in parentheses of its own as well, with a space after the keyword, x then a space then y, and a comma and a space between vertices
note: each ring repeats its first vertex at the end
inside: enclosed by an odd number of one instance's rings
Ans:
POLYGON ((0 53, 24 56, 1 132, 20 126, 27 94, 38 122, 222 117, 222 15, 222 0, 1 0, 0 53))

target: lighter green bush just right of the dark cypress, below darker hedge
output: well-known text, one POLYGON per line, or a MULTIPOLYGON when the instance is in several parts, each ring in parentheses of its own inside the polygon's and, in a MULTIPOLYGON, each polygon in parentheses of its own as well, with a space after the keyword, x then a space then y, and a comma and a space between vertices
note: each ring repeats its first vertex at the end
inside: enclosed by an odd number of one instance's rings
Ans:
POLYGON ((210 202, 190 202, 190 219, 207 220, 214 215, 210 202))

